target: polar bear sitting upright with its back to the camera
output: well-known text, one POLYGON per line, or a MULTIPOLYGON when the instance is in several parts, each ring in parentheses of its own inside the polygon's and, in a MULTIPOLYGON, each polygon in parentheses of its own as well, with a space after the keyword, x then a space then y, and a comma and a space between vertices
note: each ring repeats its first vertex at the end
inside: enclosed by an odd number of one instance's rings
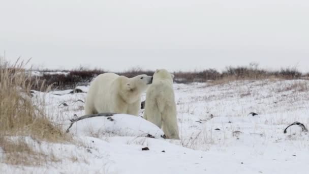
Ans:
POLYGON ((157 70, 146 93, 144 119, 162 128, 167 138, 179 139, 176 103, 173 90, 174 75, 157 70))

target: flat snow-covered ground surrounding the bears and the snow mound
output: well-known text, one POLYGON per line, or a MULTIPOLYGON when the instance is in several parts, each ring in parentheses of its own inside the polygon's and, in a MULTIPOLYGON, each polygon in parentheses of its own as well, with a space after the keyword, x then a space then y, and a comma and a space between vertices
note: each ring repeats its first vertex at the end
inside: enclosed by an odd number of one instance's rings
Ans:
MULTIPOLYGON (((180 140, 163 139, 160 129, 130 115, 90 118, 70 129, 75 143, 37 144, 59 162, 0 163, 0 173, 309 173, 309 134, 297 125, 284 134, 295 121, 309 126, 309 81, 174 84, 174 90, 180 140)), ((70 91, 34 94, 64 129, 84 112, 86 93, 70 91)))

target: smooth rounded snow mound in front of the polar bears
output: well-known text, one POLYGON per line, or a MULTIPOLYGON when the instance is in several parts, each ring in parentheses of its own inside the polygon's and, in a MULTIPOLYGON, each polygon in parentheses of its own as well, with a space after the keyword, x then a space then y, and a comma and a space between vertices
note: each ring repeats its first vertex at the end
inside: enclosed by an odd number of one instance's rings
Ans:
MULTIPOLYGON (((71 121, 68 121, 68 125, 70 123, 71 121)), ((74 123, 69 132, 73 135, 92 137, 143 136, 161 138, 164 135, 158 126, 141 117, 129 114, 83 119, 74 123)))

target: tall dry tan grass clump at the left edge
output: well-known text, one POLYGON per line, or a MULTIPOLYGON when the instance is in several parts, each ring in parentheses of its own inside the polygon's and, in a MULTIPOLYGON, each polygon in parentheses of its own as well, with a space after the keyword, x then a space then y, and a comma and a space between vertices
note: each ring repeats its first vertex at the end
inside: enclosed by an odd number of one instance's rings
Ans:
MULTIPOLYGON (((46 155, 34 151, 24 139, 12 141, 8 137, 30 136, 49 142, 68 137, 48 120, 44 110, 34 106, 30 89, 36 81, 24 70, 25 64, 10 64, 0 58, 0 149, 5 153, 4 162, 36 165, 46 155)), ((43 105, 44 100, 38 104, 43 105)))

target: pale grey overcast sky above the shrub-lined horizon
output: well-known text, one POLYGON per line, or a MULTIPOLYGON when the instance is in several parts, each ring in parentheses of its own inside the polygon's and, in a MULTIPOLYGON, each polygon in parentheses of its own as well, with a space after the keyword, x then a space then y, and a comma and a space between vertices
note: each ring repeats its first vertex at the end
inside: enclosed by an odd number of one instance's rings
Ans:
POLYGON ((309 71, 307 0, 0 0, 0 55, 35 67, 309 71))

